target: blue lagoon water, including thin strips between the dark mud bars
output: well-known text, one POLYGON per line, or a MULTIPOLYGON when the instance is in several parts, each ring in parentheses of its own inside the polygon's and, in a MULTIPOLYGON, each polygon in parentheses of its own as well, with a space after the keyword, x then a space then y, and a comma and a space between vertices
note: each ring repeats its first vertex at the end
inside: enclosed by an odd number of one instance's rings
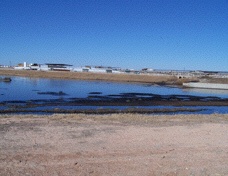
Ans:
MULTIPOLYGON (((101 81, 77 81, 77 80, 57 80, 11 77, 12 82, 0 82, 0 103, 6 101, 29 101, 29 100, 55 100, 70 98, 87 98, 96 94, 101 96, 118 95, 123 93, 148 93, 159 95, 192 95, 192 96, 216 96, 228 98, 228 90, 203 90, 203 89, 181 89, 177 87, 155 86, 147 84, 127 84, 101 81)), ((7 109, 8 106, 0 106, 0 110, 7 109)), ((42 109, 43 107, 36 107, 42 109)), ((49 108, 59 108, 53 106, 49 108)), ((63 108, 63 107, 61 107, 63 108)), ((66 109, 78 108, 101 108, 100 106, 66 106, 66 109)), ((128 108, 115 106, 108 108, 128 108)), ((138 108, 138 106, 136 107, 138 108)), ((144 108, 163 108, 162 106, 146 106, 144 108)), ((172 108, 172 106, 166 106, 172 108)), ((196 108, 196 107, 195 107, 196 108)), ((198 107, 197 107, 198 108, 198 107)), ((200 107, 205 109, 201 113, 228 113, 228 107, 200 107)))

